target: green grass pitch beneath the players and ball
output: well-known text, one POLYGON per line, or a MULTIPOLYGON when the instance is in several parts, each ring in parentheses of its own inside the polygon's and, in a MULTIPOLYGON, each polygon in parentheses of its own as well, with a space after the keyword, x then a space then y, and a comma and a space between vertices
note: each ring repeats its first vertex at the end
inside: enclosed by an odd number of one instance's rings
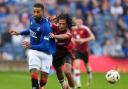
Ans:
MULTIPOLYGON (((81 74, 81 89, 128 89, 128 74, 120 74, 116 84, 109 84, 105 74, 94 73, 90 87, 86 86, 87 76, 81 74)), ((0 72, 0 89, 31 89, 30 76, 27 72, 0 72)), ((56 75, 50 75, 45 89, 61 89, 56 75)))

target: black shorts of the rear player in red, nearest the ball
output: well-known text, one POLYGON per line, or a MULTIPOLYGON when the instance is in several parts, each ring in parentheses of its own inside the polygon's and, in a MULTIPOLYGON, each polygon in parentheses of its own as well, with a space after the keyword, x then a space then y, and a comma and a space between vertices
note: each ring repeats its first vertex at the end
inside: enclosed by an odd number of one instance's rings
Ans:
POLYGON ((88 52, 86 52, 86 51, 84 51, 84 52, 74 51, 73 55, 74 55, 75 59, 83 59, 85 63, 88 63, 88 59, 89 59, 88 52))

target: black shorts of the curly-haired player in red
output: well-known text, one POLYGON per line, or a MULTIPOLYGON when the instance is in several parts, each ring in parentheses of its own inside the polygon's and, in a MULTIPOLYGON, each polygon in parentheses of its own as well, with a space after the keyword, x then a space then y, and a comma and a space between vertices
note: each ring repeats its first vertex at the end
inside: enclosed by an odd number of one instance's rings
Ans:
POLYGON ((53 55, 53 66, 58 68, 62 66, 64 63, 72 63, 72 55, 66 50, 63 49, 61 52, 56 52, 53 55))

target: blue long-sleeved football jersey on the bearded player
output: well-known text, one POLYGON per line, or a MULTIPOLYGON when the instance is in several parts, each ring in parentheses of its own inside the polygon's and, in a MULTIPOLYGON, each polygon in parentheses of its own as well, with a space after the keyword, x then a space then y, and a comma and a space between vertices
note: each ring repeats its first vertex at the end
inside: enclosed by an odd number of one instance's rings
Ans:
POLYGON ((30 48, 53 54, 56 50, 55 40, 49 38, 49 33, 52 32, 50 23, 47 18, 42 18, 40 21, 35 21, 30 18, 30 27, 28 30, 21 32, 21 35, 30 35, 30 48))

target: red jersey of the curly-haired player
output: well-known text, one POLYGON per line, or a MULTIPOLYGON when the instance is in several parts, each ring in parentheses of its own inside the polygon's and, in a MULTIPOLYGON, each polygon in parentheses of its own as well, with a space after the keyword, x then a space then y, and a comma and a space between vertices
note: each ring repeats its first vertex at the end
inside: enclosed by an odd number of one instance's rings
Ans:
POLYGON ((52 25, 52 29, 53 29, 53 33, 55 35, 59 35, 59 34, 67 34, 69 35, 69 39, 64 39, 64 40, 56 40, 57 43, 57 51, 63 51, 61 48, 65 47, 67 49, 68 52, 72 52, 73 49, 73 44, 71 42, 71 38, 72 38, 72 34, 71 32, 66 29, 64 31, 60 31, 59 27, 55 24, 52 25))

